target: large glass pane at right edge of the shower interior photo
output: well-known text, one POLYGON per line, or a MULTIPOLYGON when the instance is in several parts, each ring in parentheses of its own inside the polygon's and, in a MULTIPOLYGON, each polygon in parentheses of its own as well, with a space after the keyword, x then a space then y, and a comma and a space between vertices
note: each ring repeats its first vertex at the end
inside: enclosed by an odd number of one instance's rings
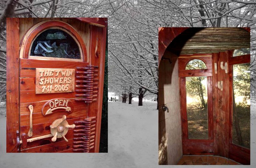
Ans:
POLYGON ((250 64, 233 65, 232 142, 250 148, 250 64))

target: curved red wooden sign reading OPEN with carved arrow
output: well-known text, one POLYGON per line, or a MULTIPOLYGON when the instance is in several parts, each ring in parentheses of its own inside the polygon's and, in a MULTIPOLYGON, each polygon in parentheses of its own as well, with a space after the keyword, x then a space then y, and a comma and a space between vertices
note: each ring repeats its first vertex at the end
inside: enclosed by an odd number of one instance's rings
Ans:
POLYGON ((65 98, 52 99, 46 102, 42 108, 42 114, 48 115, 55 112, 71 113, 74 105, 71 100, 65 98))

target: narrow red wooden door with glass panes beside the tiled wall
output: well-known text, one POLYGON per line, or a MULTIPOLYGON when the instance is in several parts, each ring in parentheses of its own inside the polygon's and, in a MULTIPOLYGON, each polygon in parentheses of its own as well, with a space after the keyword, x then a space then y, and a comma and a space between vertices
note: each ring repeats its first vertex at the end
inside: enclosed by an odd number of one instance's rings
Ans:
POLYGON ((211 54, 180 55, 178 60, 180 78, 180 102, 182 119, 182 148, 184 155, 211 155, 213 146, 213 113, 212 113, 212 57, 211 54), (192 57, 191 57, 192 56, 192 57), (205 62, 207 69, 185 70, 187 63, 193 59, 205 62), (186 77, 207 76, 208 96, 208 139, 189 139, 186 109, 186 77))

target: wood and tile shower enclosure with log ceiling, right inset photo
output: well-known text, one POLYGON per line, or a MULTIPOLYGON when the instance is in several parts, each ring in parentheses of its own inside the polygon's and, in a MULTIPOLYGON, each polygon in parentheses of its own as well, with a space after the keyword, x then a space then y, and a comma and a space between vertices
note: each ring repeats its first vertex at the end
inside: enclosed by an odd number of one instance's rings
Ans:
POLYGON ((232 57, 240 48, 250 48, 250 28, 159 28, 159 164, 175 165, 183 155, 250 164, 250 149, 232 143, 233 65, 250 63, 250 54, 232 57), (186 70, 193 59, 207 68, 186 70), (208 139, 188 138, 185 78, 196 76, 207 77, 208 139))

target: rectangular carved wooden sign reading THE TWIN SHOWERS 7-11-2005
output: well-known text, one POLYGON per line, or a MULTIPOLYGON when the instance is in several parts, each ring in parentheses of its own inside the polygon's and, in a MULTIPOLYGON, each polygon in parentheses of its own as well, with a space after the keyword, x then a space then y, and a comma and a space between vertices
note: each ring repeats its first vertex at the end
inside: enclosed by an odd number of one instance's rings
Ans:
POLYGON ((36 94, 74 92, 75 69, 36 68, 36 94))

